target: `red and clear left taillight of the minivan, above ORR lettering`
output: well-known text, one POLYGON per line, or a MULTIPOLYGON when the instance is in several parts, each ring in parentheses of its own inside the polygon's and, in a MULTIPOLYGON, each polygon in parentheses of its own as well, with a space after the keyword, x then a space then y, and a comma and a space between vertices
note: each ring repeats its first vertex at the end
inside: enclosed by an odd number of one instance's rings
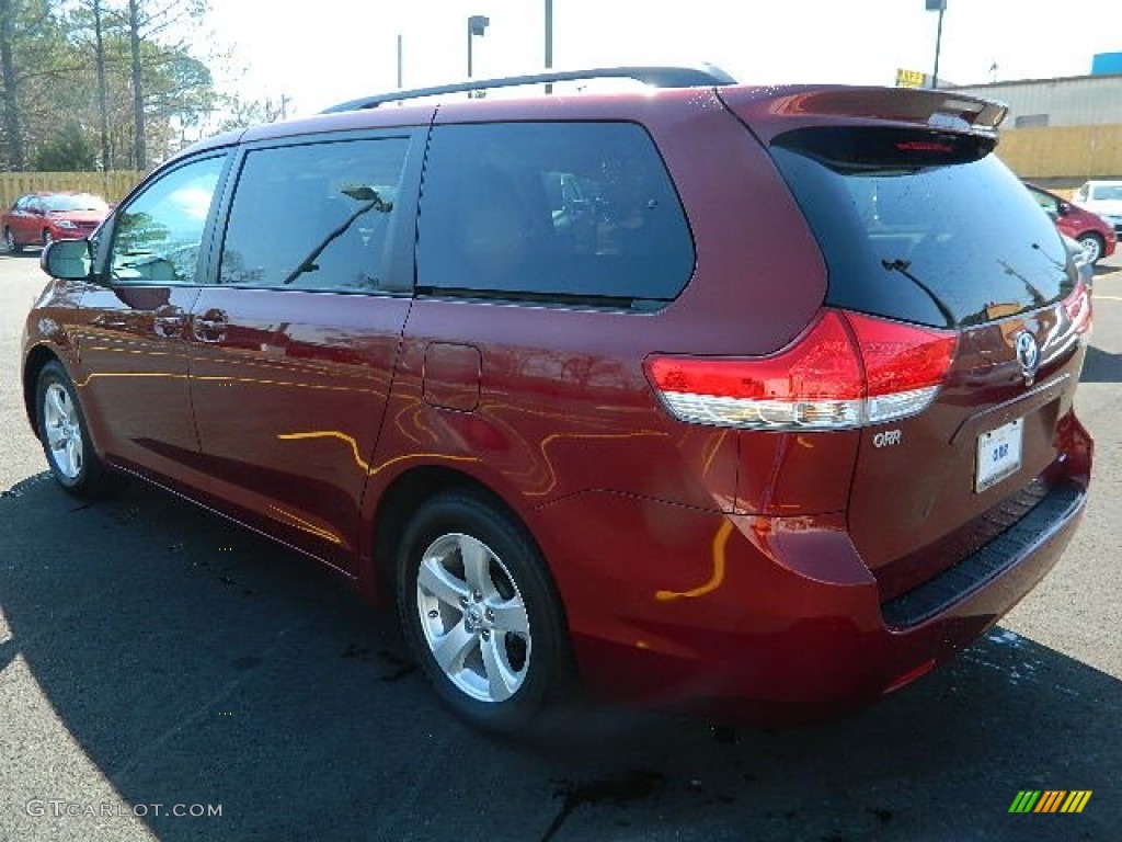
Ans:
POLYGON ((956 335, 827 310, 769 357, 653 356, 647 377, 672 415, 754 430, 842 430, 922 411, 956 335))

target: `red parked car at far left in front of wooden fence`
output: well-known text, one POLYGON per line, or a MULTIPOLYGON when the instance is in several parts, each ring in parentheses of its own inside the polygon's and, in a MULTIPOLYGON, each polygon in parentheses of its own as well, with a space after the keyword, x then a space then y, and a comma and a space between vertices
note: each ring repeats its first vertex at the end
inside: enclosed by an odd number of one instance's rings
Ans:
POLYGON ((82 239, 108 216, 109 204, 92 193, 28 193, 17 199, 0 220, 3 249, 21 251, 24 246, 82 239))

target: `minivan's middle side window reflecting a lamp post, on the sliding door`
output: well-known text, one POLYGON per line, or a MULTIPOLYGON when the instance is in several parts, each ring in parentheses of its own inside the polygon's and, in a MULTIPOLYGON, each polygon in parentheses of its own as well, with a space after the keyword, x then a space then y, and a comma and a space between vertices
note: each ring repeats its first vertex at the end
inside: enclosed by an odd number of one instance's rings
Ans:
POLYGON ((408 144, 392 137, 248 153, 219 283, 377 290, 408 144))

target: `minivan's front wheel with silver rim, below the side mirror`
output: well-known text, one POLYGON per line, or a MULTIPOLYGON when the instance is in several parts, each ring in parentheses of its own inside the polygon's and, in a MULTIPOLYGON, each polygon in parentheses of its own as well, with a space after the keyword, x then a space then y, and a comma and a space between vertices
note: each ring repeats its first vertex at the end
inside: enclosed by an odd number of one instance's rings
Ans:
POLYGON ((39 372, 35 405, 39 441, 58 484, 80 497, 101 497, 114 491, 119 479, 93 449, 77 390, 57 360, 39 372))

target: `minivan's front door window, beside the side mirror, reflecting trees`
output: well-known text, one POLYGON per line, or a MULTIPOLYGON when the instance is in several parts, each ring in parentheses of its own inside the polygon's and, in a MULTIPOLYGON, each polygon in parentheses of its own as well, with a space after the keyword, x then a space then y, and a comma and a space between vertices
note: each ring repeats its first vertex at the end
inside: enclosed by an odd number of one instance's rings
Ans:
POLYGON ((203 229, 224 162, 218 156, 176 167, 118 211, 109 257, 114 282, 195 282, 203 229))

